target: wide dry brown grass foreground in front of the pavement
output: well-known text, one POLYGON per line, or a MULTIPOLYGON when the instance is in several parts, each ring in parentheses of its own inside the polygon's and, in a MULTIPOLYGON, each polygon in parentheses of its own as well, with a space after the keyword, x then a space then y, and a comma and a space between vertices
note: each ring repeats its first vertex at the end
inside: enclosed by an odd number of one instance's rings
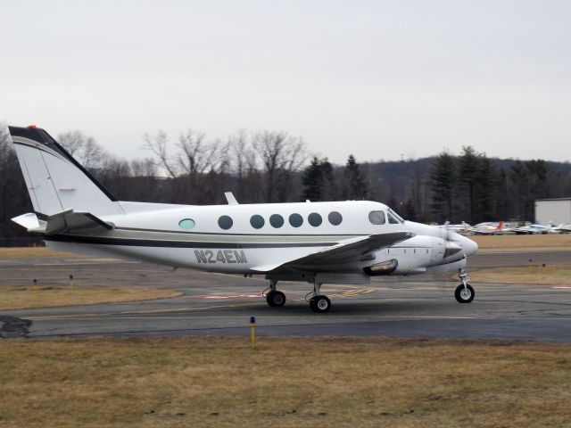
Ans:
POLYGON ((0 343, 0 426, 503 426, 571 421, 571 345, 184 337, 0 343))

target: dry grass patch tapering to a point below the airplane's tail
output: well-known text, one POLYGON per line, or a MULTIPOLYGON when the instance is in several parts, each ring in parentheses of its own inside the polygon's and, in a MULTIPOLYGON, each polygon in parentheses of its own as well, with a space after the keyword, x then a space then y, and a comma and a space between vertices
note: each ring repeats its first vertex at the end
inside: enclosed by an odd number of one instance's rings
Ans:
POLYGON ((180 296, 172 290, 142 287, 102 286, 0 286, 0 309, 48 308, 56 306, 89 305, 130 300, 153 300, 180 296))

